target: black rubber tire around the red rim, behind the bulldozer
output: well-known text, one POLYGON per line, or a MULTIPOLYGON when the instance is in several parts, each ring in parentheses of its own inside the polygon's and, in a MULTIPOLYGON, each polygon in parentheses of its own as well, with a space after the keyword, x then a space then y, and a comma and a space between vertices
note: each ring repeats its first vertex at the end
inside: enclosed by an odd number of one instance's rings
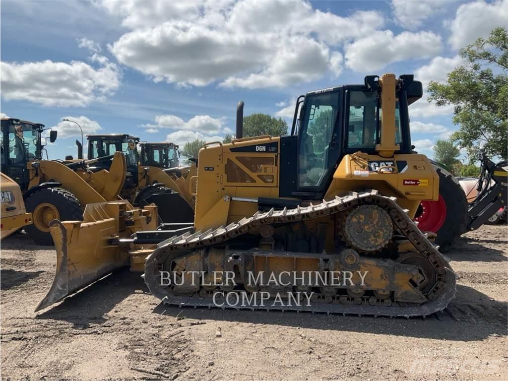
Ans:
POLYGON ((466 232, 467 199, 459 182, 447 170, 434 165, 439 175, 439 195, 446 204, 446 219, 437 232, 436 243, 441 251, 449 250, 466 232))

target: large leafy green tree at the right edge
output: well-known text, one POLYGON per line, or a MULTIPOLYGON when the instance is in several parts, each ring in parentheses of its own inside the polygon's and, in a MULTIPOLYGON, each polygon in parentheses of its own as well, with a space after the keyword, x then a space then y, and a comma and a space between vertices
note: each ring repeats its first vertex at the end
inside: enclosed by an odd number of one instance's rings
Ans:
POLYGON ((489 156, 508 154, 508 33, 495 28, 459 51, 464 65, 448 75, 446 83, 431 81, 429 102, 454 106, 459 130, 451 140, 466 148, 471 158, 480 148, 489 156))

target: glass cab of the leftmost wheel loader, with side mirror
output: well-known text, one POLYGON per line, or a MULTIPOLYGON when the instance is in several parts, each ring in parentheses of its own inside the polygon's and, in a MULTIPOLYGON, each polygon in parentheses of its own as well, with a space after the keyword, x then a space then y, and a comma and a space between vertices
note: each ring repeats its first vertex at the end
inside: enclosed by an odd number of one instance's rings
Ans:
MULTIPOLYGON (((28 189, 28 163, 42 159, 44 149, 42 132, 44 124, 16 118, 3 118, 2 126, 2 173, 16 181, 22 192, 28 189)), ((51 131, 51 142, 56 140, 56 131, 51 131)))

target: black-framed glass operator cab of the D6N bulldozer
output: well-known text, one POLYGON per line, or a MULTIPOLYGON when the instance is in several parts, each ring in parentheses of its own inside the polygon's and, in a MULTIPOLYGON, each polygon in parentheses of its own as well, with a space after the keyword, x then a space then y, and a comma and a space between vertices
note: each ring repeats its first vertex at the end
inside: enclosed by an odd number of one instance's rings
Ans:
MULTIPOLYGON (((414 81, 412 75, 399 78, 395 143, 400 149, 396 153, 412 152, 407 106, 421 97, 421 82, 414 81)), ((288 168, 281 168, 280 172, 288 175, 281 175, 279 196, 322 199, 345 154, 358 151, 377 154, 380 107, 377 76, 366 77, 363 85, 331 87, 300 97, 292 134, 281 138, 281 163, 288 168), (296 155, 292 153, 294 150, 296 155), (296 163, 291 160, 291 154, 296 157, 296 163)))

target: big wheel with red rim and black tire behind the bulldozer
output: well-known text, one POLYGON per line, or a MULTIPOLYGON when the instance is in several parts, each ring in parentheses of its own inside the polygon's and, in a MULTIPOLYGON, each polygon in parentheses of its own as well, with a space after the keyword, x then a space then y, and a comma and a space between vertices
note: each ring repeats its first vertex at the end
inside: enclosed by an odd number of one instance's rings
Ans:
POLYGON ((467 199, 464 190, 447 170, 434 165, 439 175, 439 200, 422 201, 415 215, 418 227, 437 234, 441 251, 450 249, 467 226, 467 199))

